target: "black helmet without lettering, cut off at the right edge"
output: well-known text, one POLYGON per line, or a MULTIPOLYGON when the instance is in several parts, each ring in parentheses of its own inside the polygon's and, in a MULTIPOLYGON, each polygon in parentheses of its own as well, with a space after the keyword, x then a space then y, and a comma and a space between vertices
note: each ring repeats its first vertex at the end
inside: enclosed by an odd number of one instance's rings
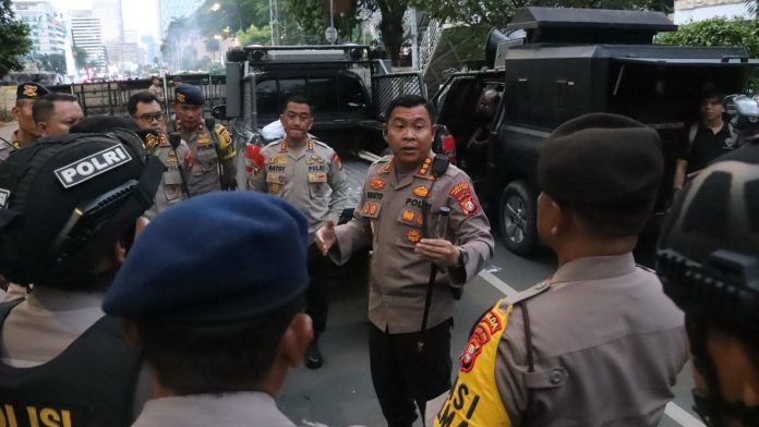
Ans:
POLYGON ((759 332, 759 146, 701 171, 676 197, 656 249, 664 292, 688 315, 759 332))

